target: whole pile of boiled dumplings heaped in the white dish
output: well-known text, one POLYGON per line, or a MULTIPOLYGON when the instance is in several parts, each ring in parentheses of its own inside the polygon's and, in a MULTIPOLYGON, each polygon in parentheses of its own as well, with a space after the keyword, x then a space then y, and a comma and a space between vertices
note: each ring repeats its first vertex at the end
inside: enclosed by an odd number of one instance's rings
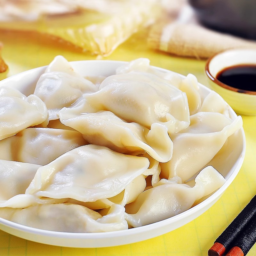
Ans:
POLYGON ((63 232, 167 219, 224 184, 208 163, 241 127, 191 74, 141 58, 85 78, 57 56, 33 94, 0 87, 0 216, 63 232))

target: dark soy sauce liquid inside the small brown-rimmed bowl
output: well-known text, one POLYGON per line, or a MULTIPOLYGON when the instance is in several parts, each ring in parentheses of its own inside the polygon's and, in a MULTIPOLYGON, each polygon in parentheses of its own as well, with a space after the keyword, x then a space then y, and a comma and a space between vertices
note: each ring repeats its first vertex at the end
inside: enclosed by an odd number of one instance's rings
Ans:
POLYGON ((256 91, 256 65, 238 65, 221 70, 216 78, 240 90, 256 91))

